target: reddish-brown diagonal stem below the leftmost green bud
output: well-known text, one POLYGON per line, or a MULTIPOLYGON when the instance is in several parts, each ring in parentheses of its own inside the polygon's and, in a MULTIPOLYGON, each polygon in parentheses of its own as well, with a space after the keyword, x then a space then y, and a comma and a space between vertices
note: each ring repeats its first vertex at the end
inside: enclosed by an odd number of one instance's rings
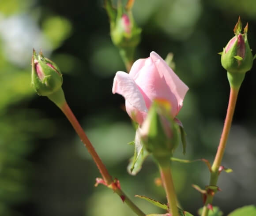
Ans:
MULTIPOLYGON (((74 127, 76 133, 81 138, 83 144, 87 148, 88 152, 92 156, 95 164, 97 165, 106 185, 111 185, 113 183, 112 177, 109 175, 108 170, 106 169, 105 165, 102 163, 102 160, 98 156, 97 152, 95 151, 93 145, 91 144, 90 140, 87 138, 87 135, 84 133, 83 128, 80 126, 79 122, 75 118, 72 110, 69 108, 67 102, 60 106, 61 111, 66 115, 72 126, 74 127)), ((145 214, 124 194, 122 190, 119 188, 113 189, 121 198, 124 197, 124 202, 135 212, 138 216, 145 216, 145 214)), ((122 198, 123 199, 123 198, 122 198)))

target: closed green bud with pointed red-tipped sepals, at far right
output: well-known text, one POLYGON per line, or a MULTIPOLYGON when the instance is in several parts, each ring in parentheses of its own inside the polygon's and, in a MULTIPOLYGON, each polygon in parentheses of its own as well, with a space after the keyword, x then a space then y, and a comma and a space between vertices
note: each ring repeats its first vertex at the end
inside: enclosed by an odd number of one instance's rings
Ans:
POLYGON ((230 73, 246 73, 252 68, 253 56, 247 40, 248 23, 241 34, 240 17, 234 28, 235 36, 223 48, 221 63, 230 73))

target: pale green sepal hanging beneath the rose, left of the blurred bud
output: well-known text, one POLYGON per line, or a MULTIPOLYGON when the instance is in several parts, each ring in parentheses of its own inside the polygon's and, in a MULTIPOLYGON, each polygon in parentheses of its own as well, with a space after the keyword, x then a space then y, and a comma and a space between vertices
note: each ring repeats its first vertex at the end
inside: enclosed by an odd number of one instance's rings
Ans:
POLYGON ((149 153, 144 149, 140 141, 138 130, 136 130, 134 142, 130 142, 129 144, 134 144, 134 156, 130 159, 127 170, 130 175, 136 175, 141 170, 142 164, 149 153))

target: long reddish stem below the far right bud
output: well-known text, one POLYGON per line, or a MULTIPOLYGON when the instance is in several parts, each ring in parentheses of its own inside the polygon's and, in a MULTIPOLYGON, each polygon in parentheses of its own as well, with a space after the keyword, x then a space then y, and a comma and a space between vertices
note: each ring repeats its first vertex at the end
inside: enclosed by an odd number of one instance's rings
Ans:
MULTIPOLYGON (((224 127, 223 127, 223 130, 222 130, 221 139, 220 139, 220 142, 219 142, 219 145, 218 145, 218 150, 217 150, 217 153, 216 153, 216 156, 215 156, 215 160, 214 160, 214 163, 212 164, 212 167, 211 167, 210 185, 212 185, 212 186, 217 185, 218 175, 219 175, 218 169, 219 169, 219 167, 221 165, 221 162, 222 162, 222 158, 223 158, 225 147, 226 147, 226 142, 227 142, 228 135, 229 135, 229 132, 230 132, 230 127, 231 127, 231 123, 232 123, 232 119, 233 119, 233 114, 234 114, 234 111, 235 111, 235 106, 236 106, 236 102, 237 102, 239 87, 237 87, 237 88, 234 88, 232 86, 230 87, 230 99, 229 99, 226 119, 225 119, 224 127)), ((203 206, 202 216, 207 216, 208 215, 209 209, 208 209, 207 205, 212 204, 212 201, 213 201, 213 195, 208 194, 206 202, 203 206)))

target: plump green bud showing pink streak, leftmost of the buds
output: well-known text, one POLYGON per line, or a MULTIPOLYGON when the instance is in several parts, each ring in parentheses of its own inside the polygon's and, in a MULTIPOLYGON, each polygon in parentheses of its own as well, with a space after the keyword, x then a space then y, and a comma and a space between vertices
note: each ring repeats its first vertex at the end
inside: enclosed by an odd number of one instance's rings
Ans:
POLYGON ((31 85, 41 96, 49 96, 56 93, 63 83, 59 67, 51 60, 45 58, 42 52, 32 55, 32 79, 31 85))

